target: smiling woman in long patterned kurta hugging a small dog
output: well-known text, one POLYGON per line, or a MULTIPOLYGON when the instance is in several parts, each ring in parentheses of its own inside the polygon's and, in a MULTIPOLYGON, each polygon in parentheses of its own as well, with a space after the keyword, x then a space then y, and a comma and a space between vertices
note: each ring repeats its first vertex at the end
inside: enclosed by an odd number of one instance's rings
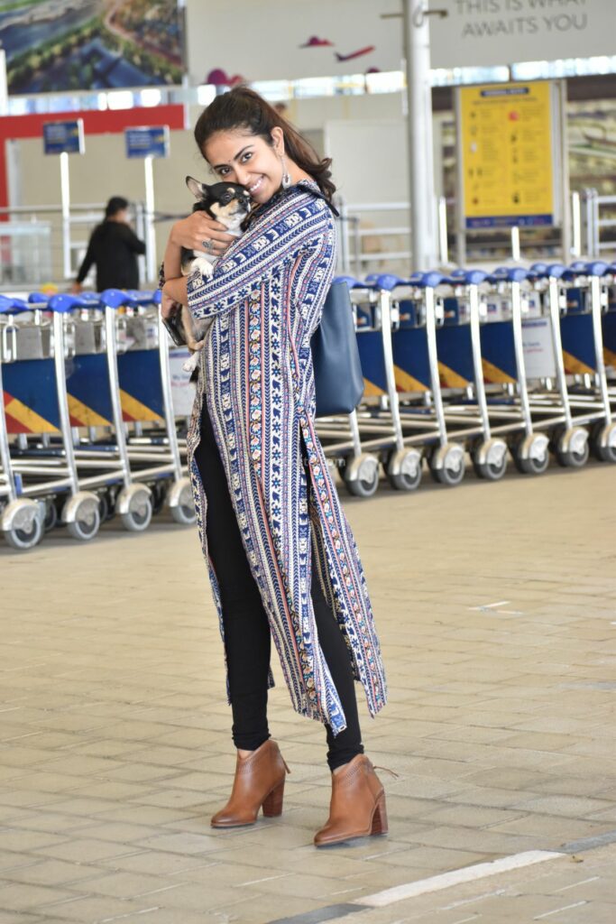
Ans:
POLYGON ((231 797, 211 824, 282 811, 288 769, 267 723, 273 638, 296 711, 326 726, 332 801, 315 843, 386 833, 354 687, 372 715, 384 705, 379 641, 314 425, 310 337, 335 261, 331 162, 245 87, 205 109, 195 139, 217 179, 254 203, 235 241, 202 212, 177 222, 163 264, 163 313, 179 303, 211 319, 187 444, 237 748, 231 797), (223 255, 210 280, 180 278, 182 246, 223 255))

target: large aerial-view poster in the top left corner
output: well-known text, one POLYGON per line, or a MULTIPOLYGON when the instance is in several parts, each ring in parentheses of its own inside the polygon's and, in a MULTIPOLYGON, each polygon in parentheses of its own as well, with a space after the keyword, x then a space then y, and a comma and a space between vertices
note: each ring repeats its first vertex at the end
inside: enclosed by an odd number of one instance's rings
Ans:
POLYGON ((179 84, 181 27, 176 0, 0 0, 8 92, 179 84))

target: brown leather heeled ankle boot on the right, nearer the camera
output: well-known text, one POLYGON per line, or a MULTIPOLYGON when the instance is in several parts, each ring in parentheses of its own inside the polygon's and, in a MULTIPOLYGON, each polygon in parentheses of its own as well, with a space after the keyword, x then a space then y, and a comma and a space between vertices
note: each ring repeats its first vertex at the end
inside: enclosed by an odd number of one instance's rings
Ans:
POLYGON ((318 847, 353 837, 387 833, 385 790, 365 754, 357 754, 332 773, 330 817, 315 834, 318 847))

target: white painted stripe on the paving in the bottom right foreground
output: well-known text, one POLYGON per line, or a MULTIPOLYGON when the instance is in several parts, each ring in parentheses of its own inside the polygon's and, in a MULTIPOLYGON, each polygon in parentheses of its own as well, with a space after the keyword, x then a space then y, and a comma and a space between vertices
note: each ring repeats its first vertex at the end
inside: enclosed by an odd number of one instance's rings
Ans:
POLYGON ((361 898, 354 899, 351 904, 381 908, 393 905, 394 902, 401 902, 405 898, 417 898, 417 895, 440 892, 441 889, 449 889, 451 886, 460 885, 462 882, 473 882, 485 879, 487 876, 495 876, 500 872, 511 872, 513 869, 522 869, 523 867, 533 866, 535 863, 545 863, 546 860, 555 860, 566 856, 566 854, 554 853, 550 850, 526 850, 523 854, 513 854, 511 857, 501 857, 501 859, 491 860, 489 863, 477 863, 463 869, 453 869, 451 872, 441 873, 439 876, 430 876, 429 879, 406 882, 404 885, 394 886, 393 889, 384 889, 382 892, 375 892, 372 895, 362 895, 361 898))

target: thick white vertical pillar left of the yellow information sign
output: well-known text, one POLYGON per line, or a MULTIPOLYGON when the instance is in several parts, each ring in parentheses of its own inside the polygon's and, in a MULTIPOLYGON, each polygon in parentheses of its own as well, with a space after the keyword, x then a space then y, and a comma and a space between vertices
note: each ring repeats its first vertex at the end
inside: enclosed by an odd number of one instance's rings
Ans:
POLYGON ((432 146, 428 0, 404 0, 405 67, 412 270, 439 260, 432 146))

